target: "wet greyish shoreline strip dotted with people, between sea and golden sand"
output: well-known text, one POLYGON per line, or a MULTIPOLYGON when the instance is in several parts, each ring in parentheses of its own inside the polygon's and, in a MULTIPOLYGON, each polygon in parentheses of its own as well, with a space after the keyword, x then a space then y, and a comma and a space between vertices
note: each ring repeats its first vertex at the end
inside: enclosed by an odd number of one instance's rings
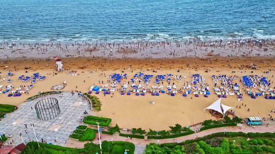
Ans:
POLYGON ((2 58, 105 57, 105 58, 183 58, 275 57, 275 40, 232 40, 185 42, 75 42, 9 44, 1 43, 2 58))

